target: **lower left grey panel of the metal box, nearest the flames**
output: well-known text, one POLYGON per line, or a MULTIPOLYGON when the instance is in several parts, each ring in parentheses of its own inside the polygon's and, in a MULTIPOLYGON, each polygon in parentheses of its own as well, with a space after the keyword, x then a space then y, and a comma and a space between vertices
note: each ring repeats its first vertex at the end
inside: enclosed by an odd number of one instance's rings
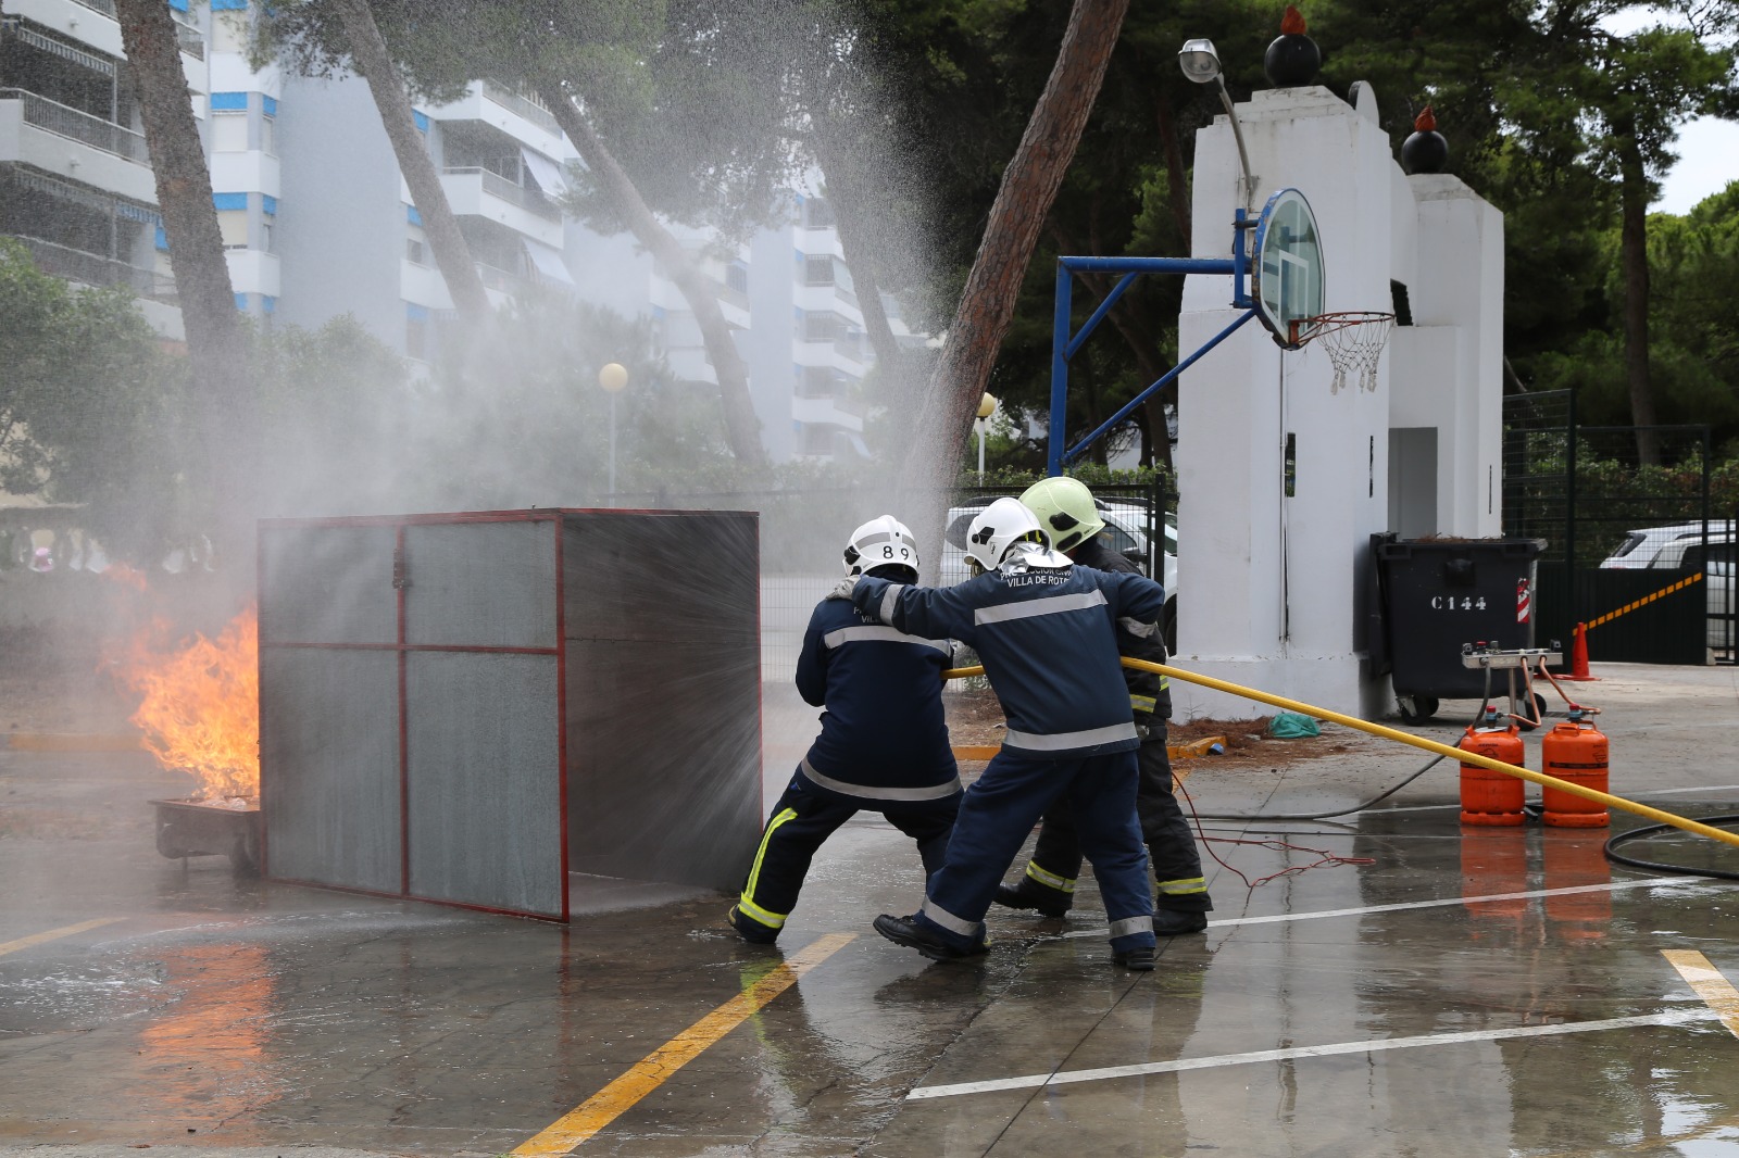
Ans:
POLYGON ((268 876, 398 892, 398 656, 261 647, 268 876))

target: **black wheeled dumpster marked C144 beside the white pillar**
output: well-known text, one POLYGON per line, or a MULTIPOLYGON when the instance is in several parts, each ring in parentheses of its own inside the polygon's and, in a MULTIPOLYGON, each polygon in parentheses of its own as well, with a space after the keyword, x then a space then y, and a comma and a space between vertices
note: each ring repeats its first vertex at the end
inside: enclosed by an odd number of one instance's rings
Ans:
MULTIPOLYGON (((1402 720, 1436 715, 1442 699, 1478 699, 1485 671, 1461 649, 1534 647, 1534 560, 1544 539, 1396 539, 1372 536, 1383 652, 1402 720)), ((1502 689, 1490 689, 1501 692, 1502 689)))

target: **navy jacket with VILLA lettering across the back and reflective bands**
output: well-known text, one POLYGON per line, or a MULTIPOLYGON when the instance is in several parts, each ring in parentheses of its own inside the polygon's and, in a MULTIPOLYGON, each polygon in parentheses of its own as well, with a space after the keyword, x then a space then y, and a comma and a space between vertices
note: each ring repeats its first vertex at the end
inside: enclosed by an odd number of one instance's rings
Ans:
POLYGON ((866 576, 852 605, 901 631, 951 636, 977 650, 1009 720, 1010 753, 1073 760, 1141 744, 1116 628, 1158 622, 1165 588, 1144 576, 1021 562, 951 588, 866 576))

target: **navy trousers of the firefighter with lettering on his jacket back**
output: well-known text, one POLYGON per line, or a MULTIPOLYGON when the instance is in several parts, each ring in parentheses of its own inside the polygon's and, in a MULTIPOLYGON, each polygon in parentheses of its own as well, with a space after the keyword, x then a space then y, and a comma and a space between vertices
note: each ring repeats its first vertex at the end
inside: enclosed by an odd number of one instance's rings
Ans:
POLYGON ((1035 760, 1003 748, 960 802, 948 861, 930 876, 918 922, 958 948, 979 941, 996 885, 1026 835, 1052 803, 1068 800, 1111 920, 1111 948, 1153 948, 1153 894, 1136 822, 1136 779, 1134 751, 1035 760))

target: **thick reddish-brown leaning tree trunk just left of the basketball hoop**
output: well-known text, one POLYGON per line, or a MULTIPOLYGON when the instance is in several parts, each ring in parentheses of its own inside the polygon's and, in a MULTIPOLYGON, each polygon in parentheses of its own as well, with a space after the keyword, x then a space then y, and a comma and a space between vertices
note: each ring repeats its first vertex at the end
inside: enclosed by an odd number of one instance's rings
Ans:
POLYGON ((1075 0, 1057 63, 1002 174, 965 292, 930 374, 918 416, 922 436, 913 440, 901 471, 908 485, 929 483, 927 490, 941 496, 953 482, 1014 316, 1021 278, 1075 158, 1127 9, 1129 0, 1075 0))

